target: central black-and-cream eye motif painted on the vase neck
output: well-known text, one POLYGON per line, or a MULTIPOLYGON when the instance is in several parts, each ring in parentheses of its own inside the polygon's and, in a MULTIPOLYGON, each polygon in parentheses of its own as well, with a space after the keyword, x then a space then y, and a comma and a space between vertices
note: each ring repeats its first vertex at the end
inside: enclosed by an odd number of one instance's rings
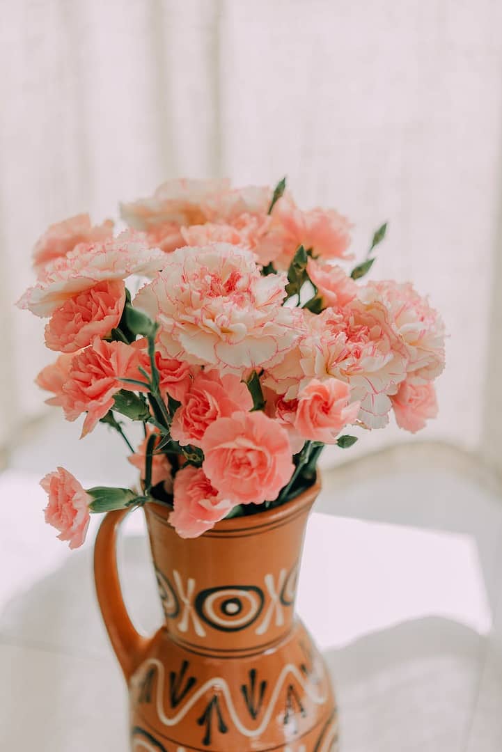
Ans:
POLYGON ((262 613, 262 590, 253 585, 227 585, 201 590, 195 610, 205 623, 222 632, 238 632, 262 613))

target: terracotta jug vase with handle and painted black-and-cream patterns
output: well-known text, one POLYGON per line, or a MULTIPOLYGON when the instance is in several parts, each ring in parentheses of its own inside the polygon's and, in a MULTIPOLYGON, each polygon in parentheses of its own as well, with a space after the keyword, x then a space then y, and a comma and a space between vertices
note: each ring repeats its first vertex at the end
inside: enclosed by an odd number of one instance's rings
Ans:
POLYGON ((295 618, 305 524, 319 486, 286 505, 183 540, 168 509, 145 507, 165 623, 132 626, 116 571, 116 529, 95 544, 98 601, 129 685, 134 752, 334 752, 325 663, 295 618))

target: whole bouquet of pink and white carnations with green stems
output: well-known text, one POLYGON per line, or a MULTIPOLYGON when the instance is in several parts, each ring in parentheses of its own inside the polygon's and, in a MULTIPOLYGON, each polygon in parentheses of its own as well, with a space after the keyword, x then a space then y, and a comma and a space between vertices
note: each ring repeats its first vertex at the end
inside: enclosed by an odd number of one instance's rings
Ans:
POLYGON ((141 490, 84 490, 64 468, 42 481, 46 519, 70 547, 89 511, 172 505, 184 537, 218 520, 286 502, 311 484, 325 444, 349 424, 382 428, 394 411, 412 432, 437 413, 439 315, 410 284, 358 283, 346 271, 350 225, 302 211, 281 181, 231 189, 176 180, 122 205, 129 230, 88 215, 35 245, 38 280, 19 305, 48 319, 59 353, 38 384, 82 435, 107 423, 126 441, 141 490), (146 278, 132 299, 129 277, 146 278), (133 450, 118 417, 141 421, 133 450))

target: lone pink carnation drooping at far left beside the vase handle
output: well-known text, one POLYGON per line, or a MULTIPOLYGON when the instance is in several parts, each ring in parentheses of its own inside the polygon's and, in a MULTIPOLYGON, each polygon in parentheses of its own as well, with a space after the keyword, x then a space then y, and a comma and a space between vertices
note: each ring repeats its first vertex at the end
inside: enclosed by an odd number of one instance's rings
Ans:
POLYGON ((59 530, 60 541, 78 548, 86 539, 91 497, 65 468, 48 473, 40 484, 49 496, 45 521, 59 530))

